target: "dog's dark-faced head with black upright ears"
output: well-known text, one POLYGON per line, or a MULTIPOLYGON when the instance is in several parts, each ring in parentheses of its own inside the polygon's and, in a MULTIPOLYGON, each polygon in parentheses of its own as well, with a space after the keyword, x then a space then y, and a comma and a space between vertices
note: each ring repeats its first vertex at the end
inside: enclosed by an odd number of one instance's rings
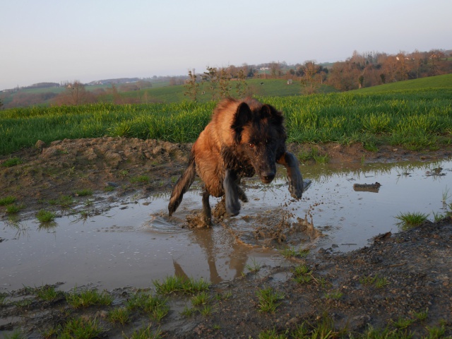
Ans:
POLYGON ((256 100, 240 103, 234 115, 231 128, 237 152, 251 163, 265 184, 275 177, 276 157, 284 148, 283 121, 283 114, 275 107, 256 100))

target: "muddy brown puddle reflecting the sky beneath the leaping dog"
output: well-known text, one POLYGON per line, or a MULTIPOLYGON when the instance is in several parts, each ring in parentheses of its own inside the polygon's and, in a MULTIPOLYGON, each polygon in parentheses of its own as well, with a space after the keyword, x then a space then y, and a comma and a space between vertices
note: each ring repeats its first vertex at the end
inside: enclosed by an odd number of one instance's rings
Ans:
MULTIPOLYGON (((396 215, 419 212, 433 220, 434 213, 445 213, 445 195, 451 202, 452 160, 305 165, 302 173, 311 184, 301 201, 290 197, 283 169, 278 170, 280 177, 270 185, 246 180, 249 203, 237 217, 216 220, 208 230, 182 227, 201 208, 196 188, 171 219, 168 193, 112 203, 84 218, 63 215, 52 224, 35 218, 1 221, 0 289, 58 282, 62 290, 150 287, 168 275, 220 283, 256 264, 285 265, 278 249, 287 246, 314 254, 357 249, 377 234, 397 232, 396 215)), ((108 204, 108 196, 103 199, 96 204, 108 204)), ((217 202, 210 198, 212 206, 217 202)))

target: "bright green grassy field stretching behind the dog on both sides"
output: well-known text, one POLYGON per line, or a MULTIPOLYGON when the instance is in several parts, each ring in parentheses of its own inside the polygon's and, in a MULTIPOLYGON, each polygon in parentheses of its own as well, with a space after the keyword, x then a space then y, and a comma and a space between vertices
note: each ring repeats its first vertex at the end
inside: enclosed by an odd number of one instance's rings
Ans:
MULTIPOLYGON (((282 82, 269 81, 275 86, 273 96, 257 98, 284 112, 292 142, 357 142, 369 150, 381 144, 435 149, 452 140, 451 79, 439 76, 309 96, 275 96, 282 82), (404 84, 416 89, 404 89, 404 84)), ((35 145, 37 140, 49 143, 63 138, 126 136, 191 142, 208 124, 214 106, 212 101, 184 101, 7 109, 0 111, 0 155, 35 145)))

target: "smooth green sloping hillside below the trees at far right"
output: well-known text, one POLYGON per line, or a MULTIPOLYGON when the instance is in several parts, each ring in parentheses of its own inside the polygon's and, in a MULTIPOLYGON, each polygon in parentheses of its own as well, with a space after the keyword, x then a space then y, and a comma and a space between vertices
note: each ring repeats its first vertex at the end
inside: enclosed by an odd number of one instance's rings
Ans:
POLYGON ((351 90, 351 93, 382 93, 396 90, 419 90, 422 88, 452 88, 452 74, 443 76, 429 76, 415 80, 398 81, 396 83, 386 83, 385 85, 351 90))

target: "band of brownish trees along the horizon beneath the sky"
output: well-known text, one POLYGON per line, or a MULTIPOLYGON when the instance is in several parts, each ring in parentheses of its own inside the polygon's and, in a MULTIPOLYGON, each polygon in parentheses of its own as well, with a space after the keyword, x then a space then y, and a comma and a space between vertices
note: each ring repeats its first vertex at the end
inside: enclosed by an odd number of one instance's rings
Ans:
MULTIPOLYGON (((169 85, 184 85, 184 95, 197 101, 201 95, 211 100, 222 97, 245 97, 253 95, 253 89, 246 80, 285 79, 288 83, 299 84, 299 93, 309 95, 318 93, 322 85, 336 90, 346 91, 371 87, 395 81, 423 78, 452 73, 452 53, 441 49, 429 52, 415 51, 386 54, 380 52, 353 52, 345 61, 333 64, 317 64, 316 61, 304 61, 303 64, 288 65, 285 61, 271 61, 266 64, 227 67, 207 66, 203 73, 193 69, 188 76, 167 77, 169 85)), ((57 84, 58 85, 58 84, 57 84)), ((3 101, 4 108, 40 105, 52 102, 52 105, 82 105, 92 102, 113 102, 115 104, 133 104, 153 102, 144 88, 152 87, 150 81, 115 84, 110 88, 87 90, 83 83, 73 81, 61 83, 65 90, 57 93, 16 93, 13 100, 3 101), (136 91, 136 95, 121 95, 120 92, 136 91)), ((0 101, 0 105, 1 101, 0 101)), ((1 107, 1 106, 0 106, 1 107)))

